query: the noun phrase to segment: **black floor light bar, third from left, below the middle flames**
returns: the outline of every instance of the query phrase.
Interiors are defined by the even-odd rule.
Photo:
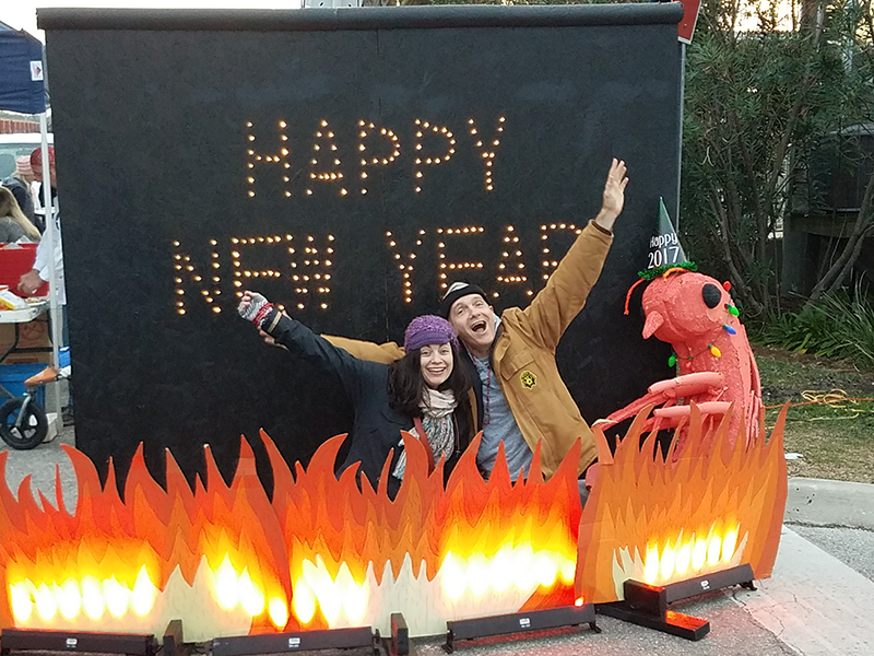
[[[454,620],[446,623],[446,644],[444,649],[451,654],[456,648],[456,641],[474,640],[492,635],[506,635],[507,633],[527,633],[556,626],[576,626],[589,624],[592,631],[601,632],[595,624],[594,605],[563,606],[531,612],[515,612],[510,614],[475,618],[472,620]]]

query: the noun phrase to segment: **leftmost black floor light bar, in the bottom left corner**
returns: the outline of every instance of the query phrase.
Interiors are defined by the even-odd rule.
[[[144,633],[3,629],[0,632],[0,654],[8,656],[12,649],[16,652],[88,652],[155,656],[157,642],[154,634]]]

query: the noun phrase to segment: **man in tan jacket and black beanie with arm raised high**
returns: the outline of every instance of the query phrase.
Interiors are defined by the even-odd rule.
[[[613,160],[601,211],[589,222],[531,304],[510,307],[498,317],[483,290],[456,282],[442,298],[440,314],[464,345],[476,391],[483,440],[477,464],[491,473],[503,442],[510,475],[528,473],[541,443],[541,469],[550,478],[579,437],[578,475],[594,462],[598,449],[589,425],[558,374],[555,349],[582,309],[601,274],[622,213],[628,184],[625,162]],[[367,344],[329,338],[358,358],[390,362],[403,355],[394,343]],[[581,493],[584,491],[581,489]]]

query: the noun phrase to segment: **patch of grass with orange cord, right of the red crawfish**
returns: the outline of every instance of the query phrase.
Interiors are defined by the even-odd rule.
[[[786,450],[803,457],[787,461],[789,476],[874,483],[874,400],[851,400],[874,399],[874,372],[773,347],[753,350],[765,406],[793,403]],[[769,429],[778,412],[766,412]]]

